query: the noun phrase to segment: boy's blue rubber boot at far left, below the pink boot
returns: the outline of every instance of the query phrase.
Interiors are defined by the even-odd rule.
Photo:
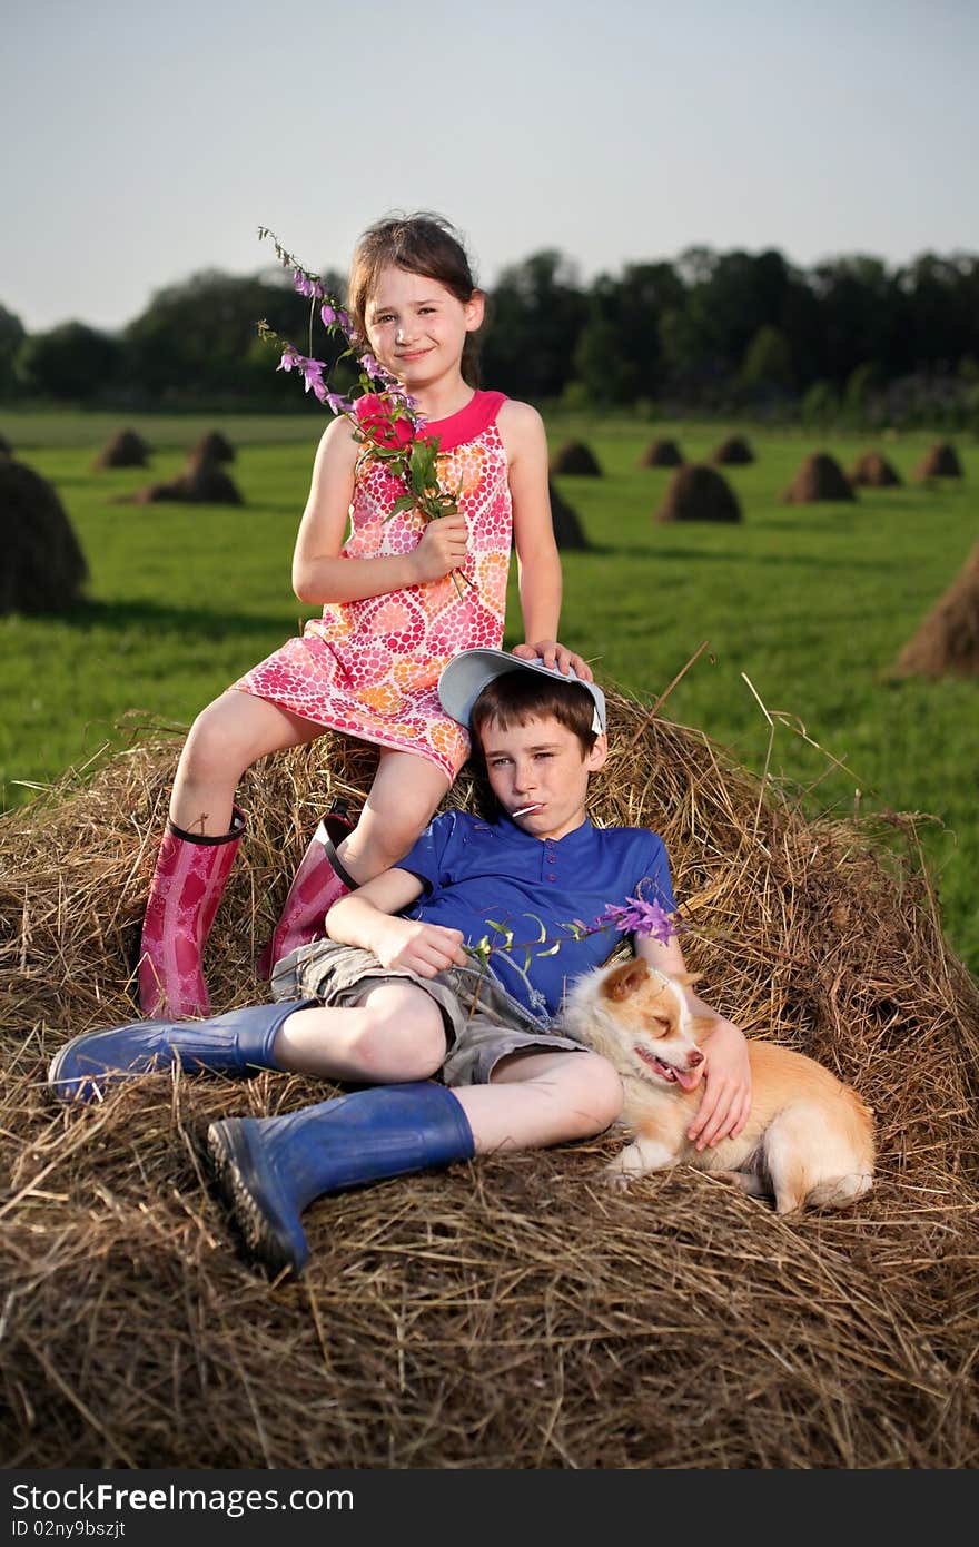
[[[316,999],[249,1004],[207,1021],[133,1021],[105,1032],[74,1036],[51,1060],[48,1084],[62,1101],[101,1101],[127,1075],[170,1069],[254,1074],[277,1069],[275,1033],[294,1010]]]

